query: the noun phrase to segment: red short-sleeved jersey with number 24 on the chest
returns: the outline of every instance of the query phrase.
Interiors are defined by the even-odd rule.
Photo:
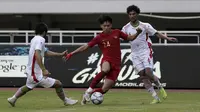
[[[116,66],[121,65],[121,49],[120,49],[120,38],[127,40],[128,35],[118,29],[112,30],[111,33],[105,34],[100,33],[93,38],[88,46],[93,47],[98,45],[101,52],[103,53],[103,59],[111,62]]]

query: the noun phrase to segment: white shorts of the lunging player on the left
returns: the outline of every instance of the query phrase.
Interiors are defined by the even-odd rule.
[[[27,76],[26,86],[30,89],[35,88],[36,86],[42,86],[44,88],[50,88],[54,85],[55,79],[50,77],[43,77],[39,82],[35,82],[32,76]]]

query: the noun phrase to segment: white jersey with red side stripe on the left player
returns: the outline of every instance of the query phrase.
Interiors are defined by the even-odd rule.
[[[45,39],[39,35],[36,35],[31,40],[28,65],[26,69],[28,75],[32,76],[35,82],[39,82],[42,79],[43,75],[42,70],[36,61],[35,50],[40,50],[42,58],[44,57],[44,53],[46,51]]]

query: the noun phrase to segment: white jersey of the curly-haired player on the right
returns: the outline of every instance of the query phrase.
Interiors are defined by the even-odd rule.
[[[141,21],[139,21],[139,25],[137,27],[133,27],[130,22],[127,23],[122,28],[122,31],[128,35],[133,35],[137,32],[137,28],[141,28],[142,32],[135,40],[130,41],[131,52],[133,55],[140,55],[150,52],[148,41],[151,43],[151,40],[148,40],[149,36],[152,36],[157,32],[157,30],[155,30],[149,23],[143,23]]]

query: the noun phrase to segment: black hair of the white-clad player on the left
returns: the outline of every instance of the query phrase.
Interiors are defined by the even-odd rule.
[[[47,33],[47,31],[48,31],[48,26],[45,23],[41,22],[36,25],[36,28],[35,28],[36,35],[41,35],[44,32]]]

